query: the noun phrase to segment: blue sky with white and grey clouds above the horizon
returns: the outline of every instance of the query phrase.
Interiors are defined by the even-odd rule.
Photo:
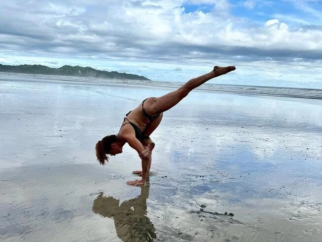
[[[322,0],[1,0],[0,64],[322,89]]]

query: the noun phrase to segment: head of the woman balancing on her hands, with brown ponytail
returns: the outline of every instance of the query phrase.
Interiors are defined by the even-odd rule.
[[[115,134],[105,136],[102,140],[96,143],[96,157],[101,164],[108,162],[108,155],[115,156],[122,153],[122,147],[117,145],[117,136]]]

